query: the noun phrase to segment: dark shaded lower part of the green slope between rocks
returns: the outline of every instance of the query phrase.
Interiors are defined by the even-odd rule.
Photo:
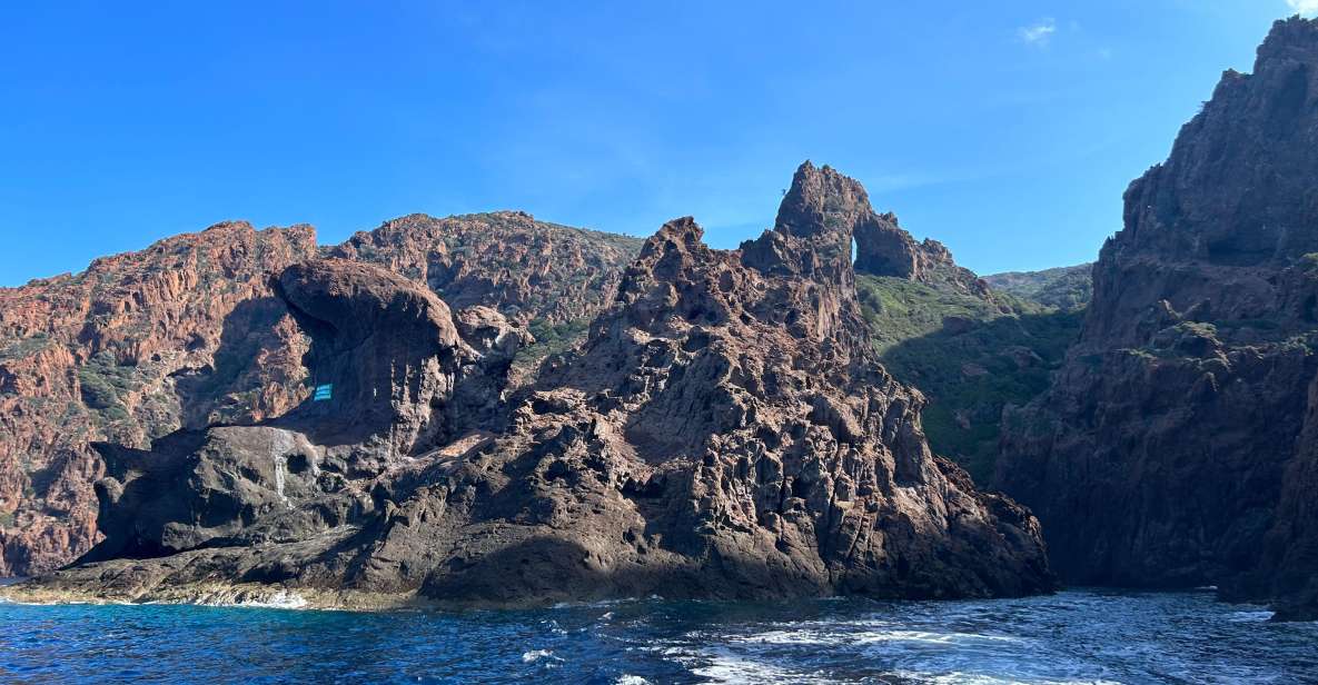
[[[992,481],[1002,411],[1048,389],[1052,373],[1079,335],[1083,310],[999,316],[977,321],[946,316],[942,328],[904,340],[880,361],[929,399],[923,412],[929,447]]]

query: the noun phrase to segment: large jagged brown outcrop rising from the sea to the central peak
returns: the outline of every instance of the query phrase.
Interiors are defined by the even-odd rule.
[[[734,252],[705,246],[691,219],[664,225],[584,345],[547,360],[496,411],[463,389],[498,378],[497,340],[515,345],[515,331],[448,314],[449,336],[438,300],[403,283],[295,266],[281,290],[299,324],[331,324],[331,350],[362,340],[352,354],[381,360],[366,368],[390,369],[387,387],[370,381],[377,390],[351,390],[330,414],[308,402],[273,422],[175,433],[150,454],[107,448],[105,543],[11,593],[509,606],[1048,590],[1037,522],[933,456],[921,395],[876,361],[849,260],[854,217],[869,209],[855,191],[807,163],[775,228]],[[341,286],[306,291],[345,299],[316,314],[290,286],[324,270],[318,283]],[[413,325],[420,307],[409,335],[439,344],[418,352],[387,329],[352,333],[358,316],[336,323],[343,312],[380,311],[355,292],[386,303],[380,321]],[[306,329],[319,349],[326,333]],[[312,375],[340,368],[312,357]],[[452,381],[416,383],[415,369]],[[387,429],[368,422],[362,441],[326,437],[339,435],[327,423],[352,423],[385,394]],[[424,439],[389,437],[416,418]]]

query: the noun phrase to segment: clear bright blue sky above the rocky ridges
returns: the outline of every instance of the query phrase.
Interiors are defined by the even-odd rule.
[[[1318,0],[812,5],[11,4],[0,285],[225,219],[693,215],[731,248],[805,158],[979,273],[1089,261],[1222,70]]]

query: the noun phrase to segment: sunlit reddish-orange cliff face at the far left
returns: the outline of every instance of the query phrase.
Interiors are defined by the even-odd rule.
[[[95,541],[90,441],[148,447],[297,404],[306,340],[268,279],[315,250],[308,227],[219,224],[0,288],[0,576]]]

